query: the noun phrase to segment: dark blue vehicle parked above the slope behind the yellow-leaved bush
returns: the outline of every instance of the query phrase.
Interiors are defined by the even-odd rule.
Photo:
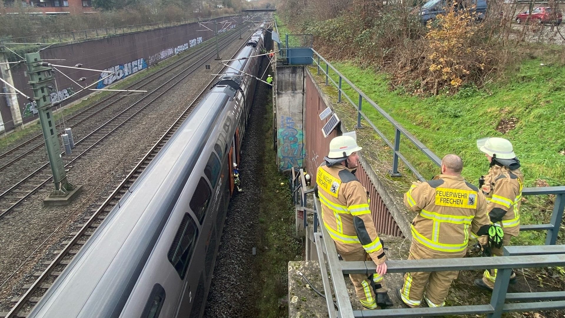
[[[449,3],[452,3],[452,1],[450,0]],[[447,12],[446,8],[446,0],[430,0],[426,2],[419,11],[421,22],[426,24],[428,21],[435,20],[438,14],[445,14]],[[477,22],[480,22],[485,18],[486,0],[459,0],[455,3],[453,10],[472,10],[475,19]]]

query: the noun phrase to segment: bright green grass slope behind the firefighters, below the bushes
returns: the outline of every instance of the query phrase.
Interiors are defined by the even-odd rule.
[[[483,89],[468,86],[455,95],[427,98],[411,96],[402,88],[392,91],[386,75],[374,70],[353,63],[333,63],[333,66],[437,156],[441,158],[448,153],[461,156],[463,176],[468,181],[476,184],[489,167],[475,140],[500,136],[514,145],[527,186],[534,186],[537,179],[544,179],[552,186],[565,185],[565,156],[560,153],[565,149],[565,67],[542,67],[540,63],[538,59],[522,63],[506,83],[490,84]],[[316,69],[311,71],[315,73]],[[338,76],[333,71],[330,74],[337,82]],[[334,86],[323,86],[324,76],[319,76],[318,81],[327,94],[337,97]],[[342,87],[357,103],[358,94],[345,81]],[[354,108],[345,97],[344,102],[337,104],[337,108],[349,108],[349,117],[355,117],[351,113]],[[383,115],[368,102],[363,102],[362,110],[387,139],[394,140],[394,128]],[[516,127],[506,134],[498,132],[501,118],[511,117],[518,119]],[[367,127],[364,131],[371,130],[366,121],[362,125]],[[378,138],[375,135],[375,141]],[[405,136],[401,137],[401,152],[425,178],[438,173],[438,167]],[[402,172],[406,174],[407,169]],[[547,223],[553,201],[547,196],[527,199],[521,213],[522,224]],[[518,242],[543,244],[544,239],[545,231],[529,231],[521,233]]]

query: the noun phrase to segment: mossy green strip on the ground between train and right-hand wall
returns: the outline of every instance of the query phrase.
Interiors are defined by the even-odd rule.
[[[267,98],[271,100],[271,94]],[[288,190],[288,178],[277,169],[275,151],[272,149],[272,103],[266,105],[263,124],[264,152],[261,173],[262,204],[259,209],[259,235],[255,261],[257,290],[257,315],[262,318],[288,317],[288,305],[279,299],[288,296],[288,262],[302,255],[303,245],[294,237],[294,205]],[[284,183],[284,184],[281,184]]]

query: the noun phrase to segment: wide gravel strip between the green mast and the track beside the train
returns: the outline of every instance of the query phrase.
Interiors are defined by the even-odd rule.
[[[242,41],[228,45],[222,57],[231,57]],[[213,58],[209,62],[211,70],[200,67],[166,97],[161,97],[113,136],[107,137],[95,152],[74,164],[67,174],[68,179],[81,184],[83,191],[71,205],[43,207],[42,200],[51,189],[49,185],[20,205],[18,211],[0,220],[0,311],[11,307],[9,300],[21,295],[21,287],[33,282],[33,272],[42,268],[36,264],[53,259],[53,251],[60,250],[68,234],[92,214],[95,203],[103,201],[124,178],[124,170],[128,173],[149,151],[208,83],[210,74],[217,74],[221,67]],[[124,107],[131,105],[131,100],[124,100]],[[80,135],[78,130],[77,135]]]

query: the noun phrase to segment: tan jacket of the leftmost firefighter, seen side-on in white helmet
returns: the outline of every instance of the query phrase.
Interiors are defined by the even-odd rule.
[[[344,165],[318,167],[316,184],[322,220],[336,245],[344,251],[360,248],[375,264],[385,261],[383,244],[375,229],[369,209],[367,190]]]

